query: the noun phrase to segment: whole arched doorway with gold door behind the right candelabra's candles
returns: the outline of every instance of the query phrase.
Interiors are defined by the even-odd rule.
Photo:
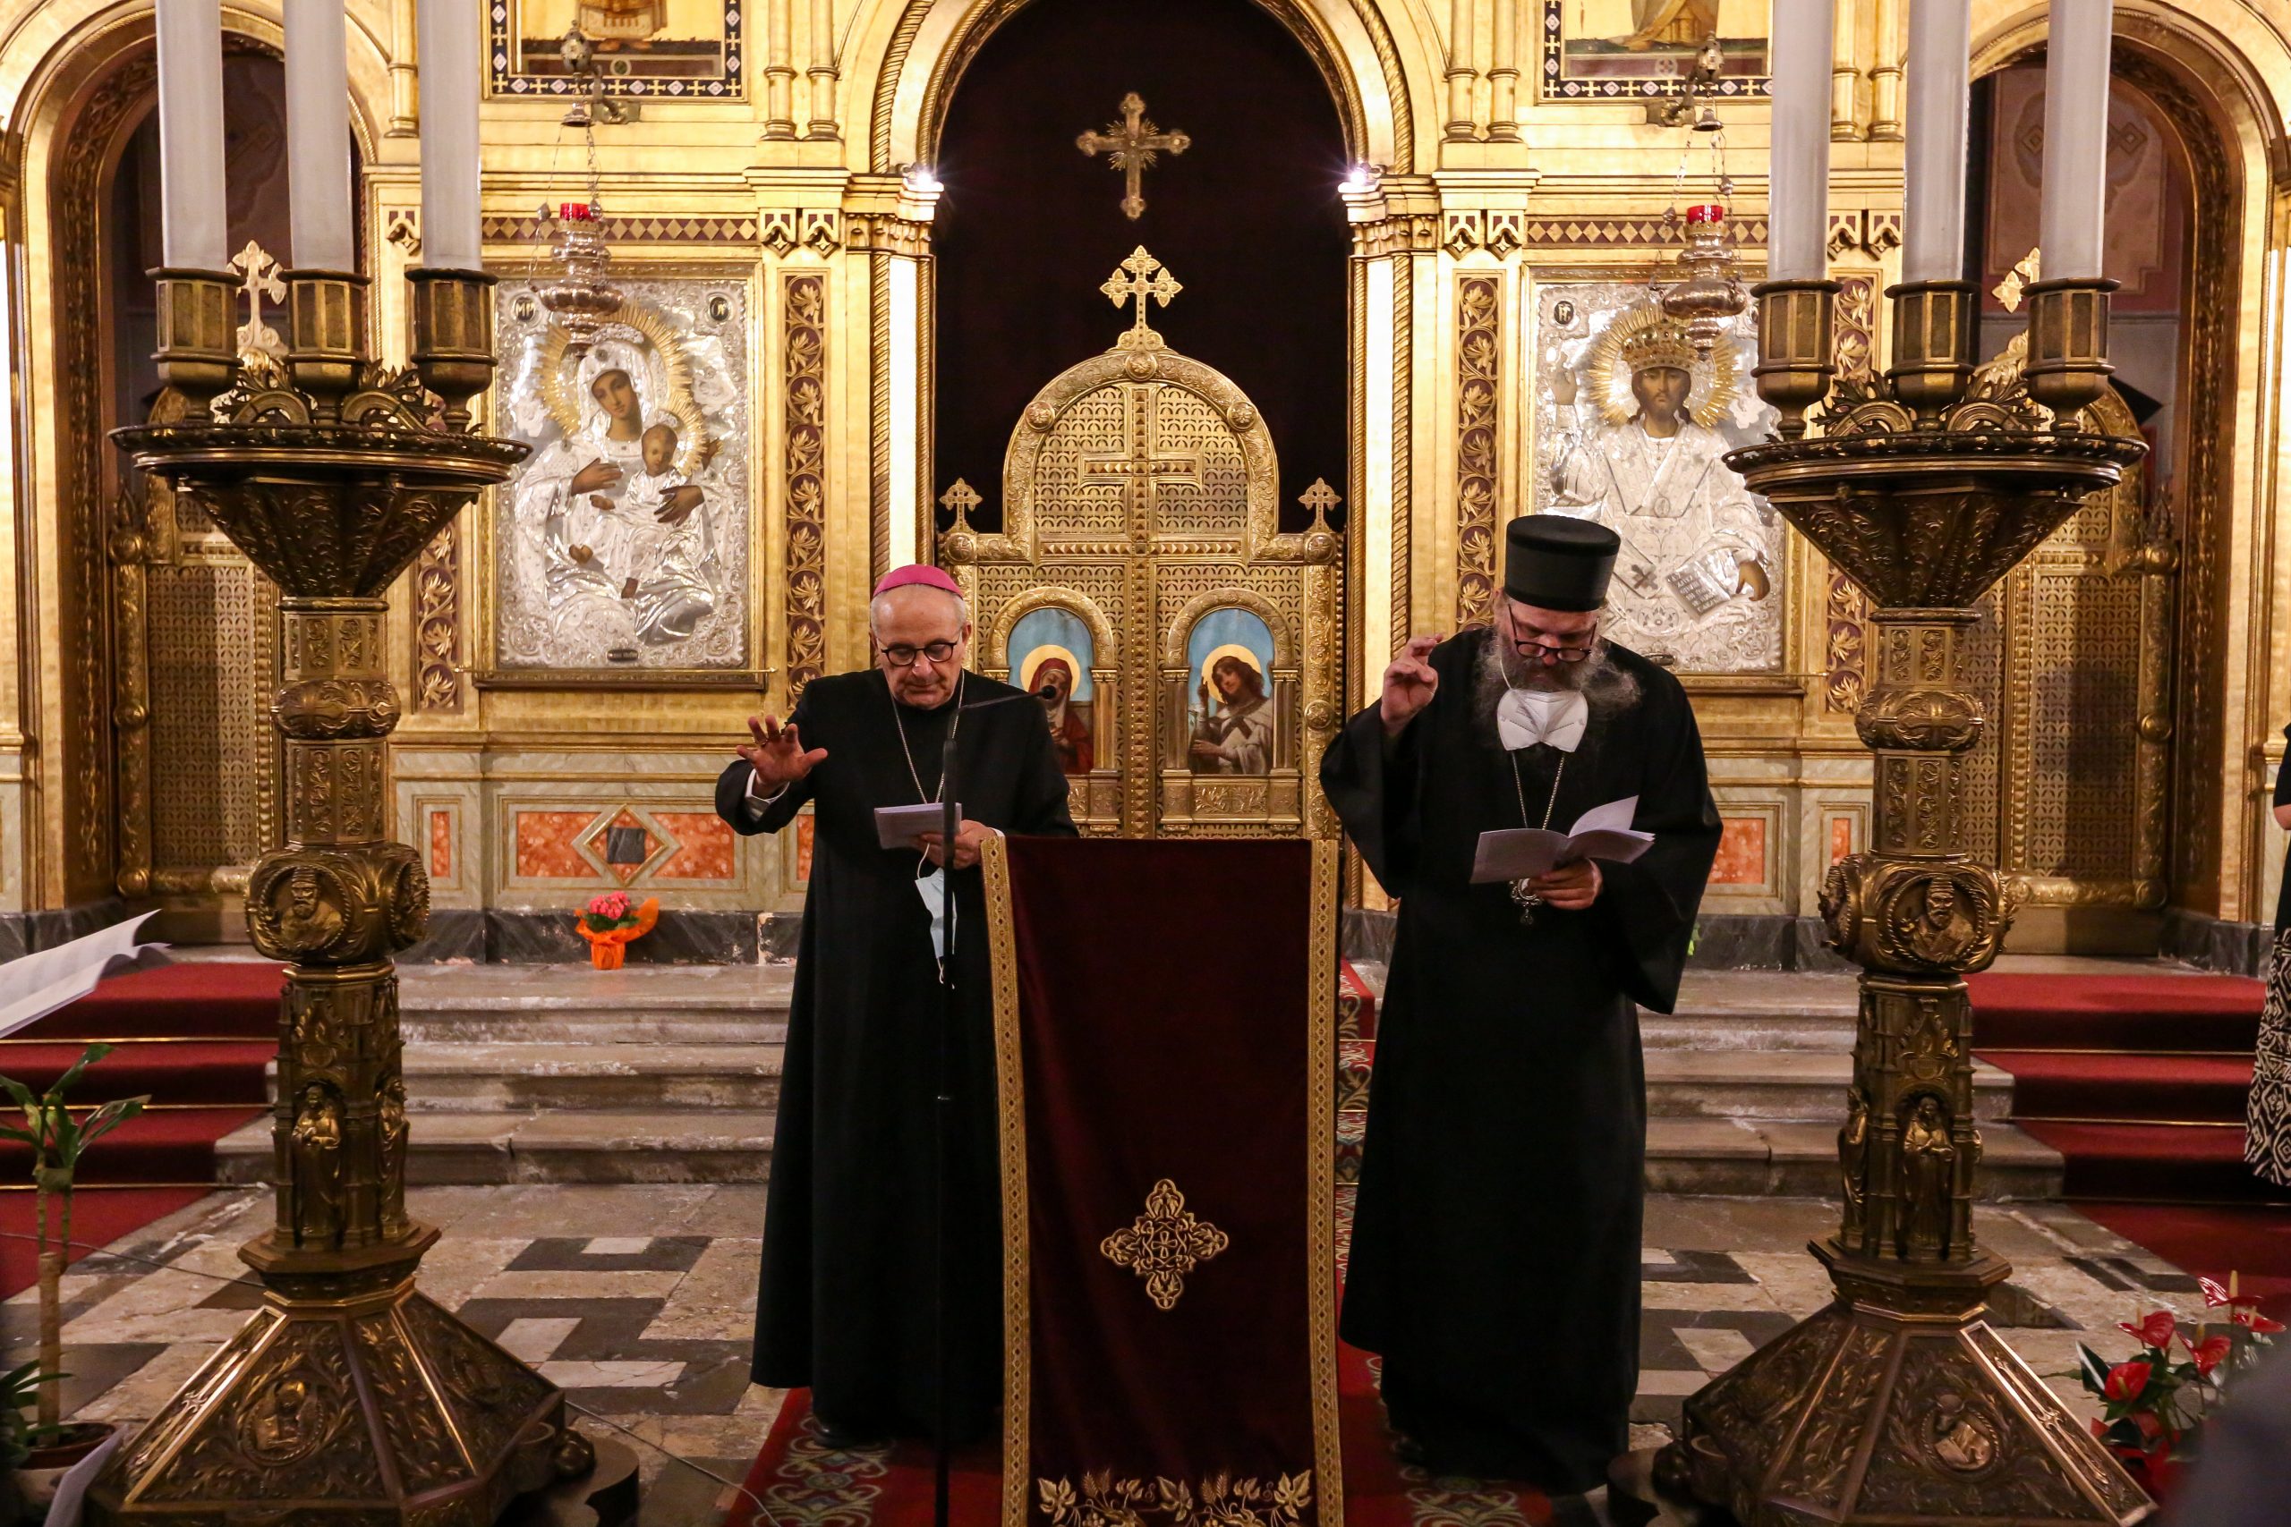
[[[2174,666],[2190,501],[2211,492],[2204,437],[2220,396],[2195,359],[2202,330],[2197,206],[2220,204],[2209,119],[2119,39],[2108,124],[2105,272],[2115,391],[2099,428],[2149,456],[2062,524],[1982,600],[1968,668],[1989,726],[1968,758],[1977,852],[2021,895],[2018,950],[2154,952],[2172,888]],[[1973,94],[1968,272],[1979,359],[2016,369],[2018,288],[2037,252],[2044,55],[2021,53]],[[2206,183],[2211,181],[2211,183]],[[2213,234],[2215,238],[2215,234]],[[2211,252],[2211,259],[2218,259]],[[2231,318],[2227,318],[2231,321]]]

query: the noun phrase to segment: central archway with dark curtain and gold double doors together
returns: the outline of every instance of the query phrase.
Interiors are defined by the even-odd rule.
[[[1125,133],[1159,144],[1134,174]],[[1308,831],[1304,714],[1340,701],[1333,641],[1306,652],[1340,627],[1336,540],[1308,531],[1343,522],[1354,476],[1347,121],[1322,60],[1246,0],[1150,27],[1036,0],[965,57],[932,172],[928,458],[981,531],[948,549],[976,565],[983,662],[1063,662],[1095,829]],[[1150,346],[1109,348],[1125,270],[1164,286]]]

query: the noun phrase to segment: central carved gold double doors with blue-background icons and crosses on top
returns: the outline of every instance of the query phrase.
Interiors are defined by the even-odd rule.
[[[1127,272],[1127,279],[1125,279]],[[1281,533],[1274,442],[1219,371],[1146,325],[1178,293],[1139,250],[1107,282],[1136,323],[1010,430],[1003,529],[955,483],[942,561],[978,664],[1056,691],[1047,723],[1091,833],[1333,836],[1320,753],[1338,717],[1336,495]]]

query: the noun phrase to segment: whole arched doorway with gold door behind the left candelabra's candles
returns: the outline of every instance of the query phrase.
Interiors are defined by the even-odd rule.
[[[27,227],[27,270],[50,314],[34,375],[46,378],[41,424],[57,442],[34,456],[53,547],[41,593],[69,655],[44,698],[62,765],[44,801],[60,847],[44,893],[53,904],[156,900],[170,911],[163,936],[229,936],[245,872],[277,838],[275,593],[218,527],[179,511],[108,440],[179,408],[151,364],[149,272],[163,259],[149,18],[60,57],[27,135],[46,204]],[[293,259],[284,98],[277,37],[229,32],[229,247],[263,307],[241,309],[238,343],[273,359],[284,357],[277,275]],[[353,185],[362,163],[360,142]]]

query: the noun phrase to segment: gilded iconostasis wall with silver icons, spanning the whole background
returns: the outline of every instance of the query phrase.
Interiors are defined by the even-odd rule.
[[[277,831],[268,591],[103,440],[160,403],[149,7],[25,9],[0,37],[25,334],[0,918],[158,897],[222,936]],[[2023,948],[2234,955],[2280,859],[2284,552],[2250,337],[2282,300],[2264,188],[2291,43],[2195,11],[2117,5],[2103,414],[2151,460],[1970,648],[1968,813]],[[424,234],[412,18],[351,5],[357,250],[392,355]],[[227,27],[241,343],[277,357],[280,23],[250,2]],[[1904,27],[1895,0],[1840,5],[1849,382],[1902,275]],[[426,856],[428,952],[534,952],[600,888],[660,895],[687,955],[784,936],[809,840],[735,840],[708,783],[747,714],[868,659],[866,588],[914,559],[971,588],[974,662],[1045,696],[1088,831],[1329,833],[1331,728],[1411,632],[1485,618],[1503,522],[1553,511],[1617,529],[1608,630],[1695,698],[1725,815],[1707,955],[1803,957],[1867,836],[1869,611],[1725,465],[1773,428],[1746,298],[1766,30],[1759,0],[490,5],[483,408],[532,456],[394,595],[392,826]],[[2041,5],[1975,7],[1993,378],[2041,268]],[[1695,227],[1743,307],[1688,327],[1663,293]],[[568,327],[584,282],[612,300]],[[1359,865],[1347,895],[1381,904]]]

